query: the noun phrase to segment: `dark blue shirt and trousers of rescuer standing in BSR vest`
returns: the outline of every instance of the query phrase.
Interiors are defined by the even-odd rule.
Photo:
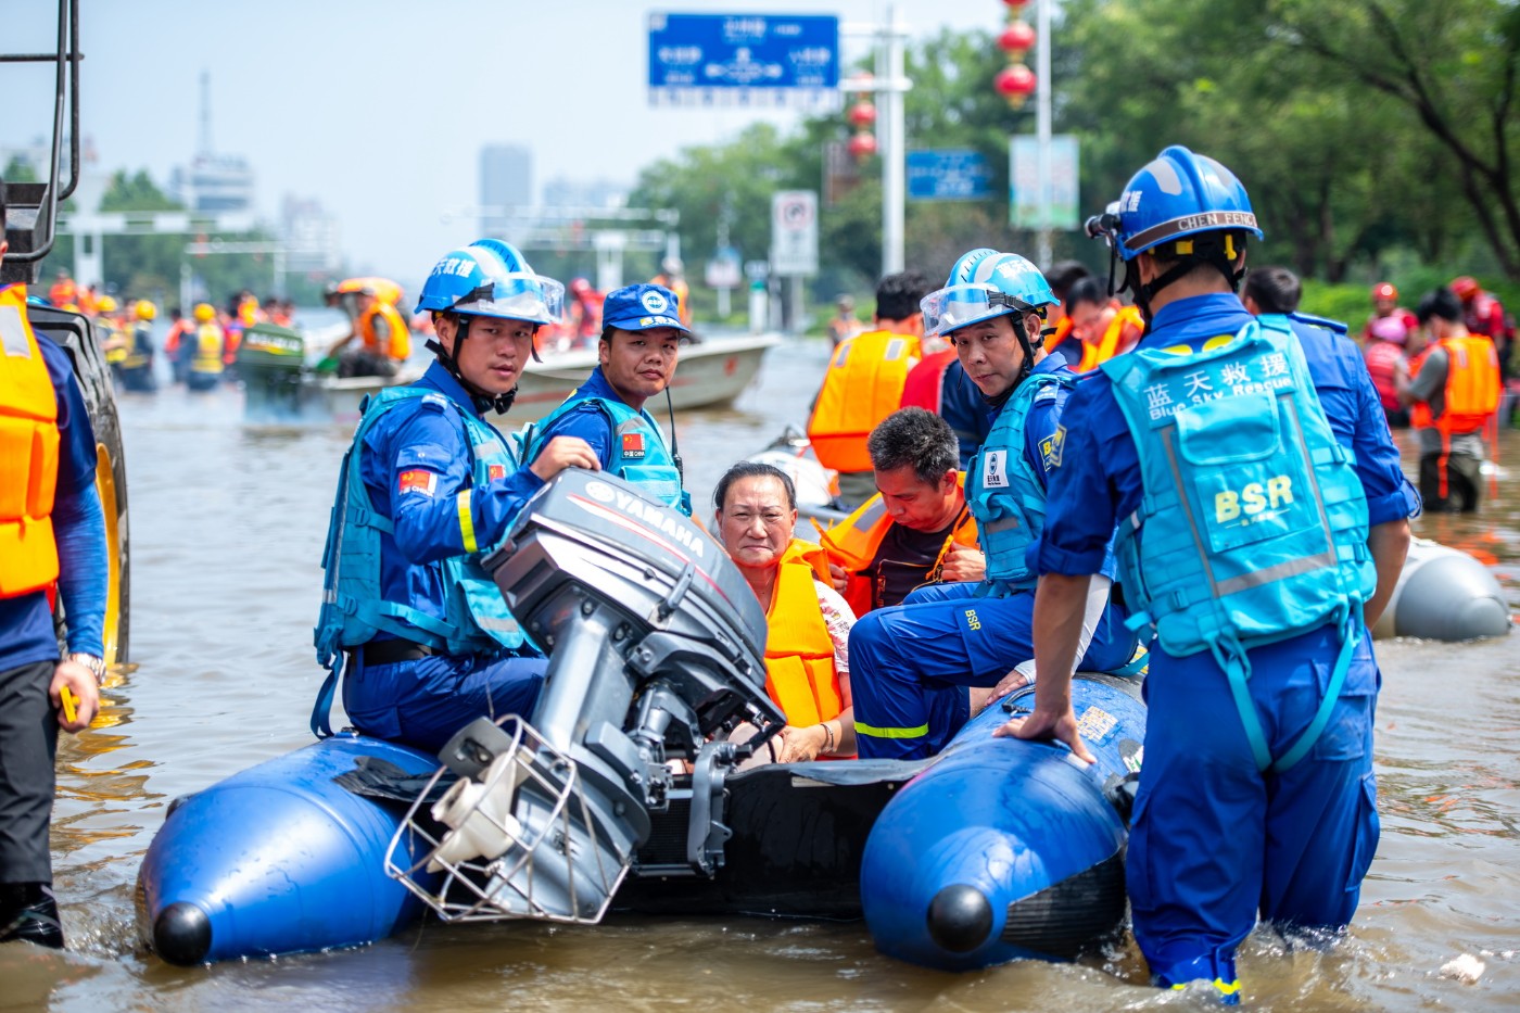
[[[1251,319],[1230,294],[1180,300],[1155,315],[1140,348],[1198,351]],[[1301,322],[1292,329],[1335,441],[1354,456],[1368,525],[1417,513],[1418,496],[1400,472],[1356,345]],[[1078,385],[1062,426],[1049,500],[1061,523],[1046,529],[1037,564],[1041,573],[1097,573],[1116,522],[1143,505],[1134,437],[1105,373]],[[1300,928],[1350,922],[1379,834],[1373,710],[1380,675],[1359,610],[1353,628],[1360,637],[1328,724],[1281,773],[1260,771],[1214,654],[1172,657],[1152,645],[1126,869],[1135,940],[1160,983],[1207,978],[1233,993],[1234,949],[1257,911]],[[1249,700],[1274,757],[1313,721],[1341,645],[1341,630],[1328,622],[1246,653]]]

